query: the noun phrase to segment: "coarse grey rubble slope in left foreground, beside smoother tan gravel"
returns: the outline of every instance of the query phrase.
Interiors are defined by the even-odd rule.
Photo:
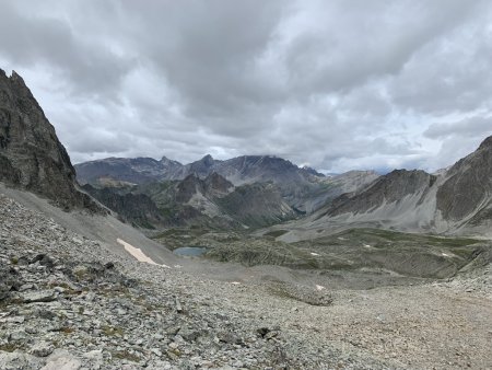
[[[1,369],[365,367],[244,317],[224,282],[116,257],[4,196],[0,209]]]

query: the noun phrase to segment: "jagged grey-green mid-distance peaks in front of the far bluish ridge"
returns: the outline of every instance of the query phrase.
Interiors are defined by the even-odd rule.
[[[151,197],[171,224],[212,228],[265,227],[296,217],[273,184],[235,187],[218,173],[204,180],[141,185],[134,189]]]

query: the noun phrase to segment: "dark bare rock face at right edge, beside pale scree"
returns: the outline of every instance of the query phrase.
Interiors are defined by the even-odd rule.
[[[480,211],[492,197],[492,136],[449,169],[437,192],[437,209],[446,220],[462,220]]]

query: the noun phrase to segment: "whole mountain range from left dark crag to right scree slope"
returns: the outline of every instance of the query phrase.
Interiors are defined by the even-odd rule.
[[[325,176],[271,155],[206,155],[189,164],[110,158],[72,166],[23,79],[1,70],[0,163],[5,184],[67,210],[106,207],[139,227],[260,228],[290,220],[292,231],[281,238],[298,240],[352,227],[487,234],[491,226],[492,137],[436,174]]]

